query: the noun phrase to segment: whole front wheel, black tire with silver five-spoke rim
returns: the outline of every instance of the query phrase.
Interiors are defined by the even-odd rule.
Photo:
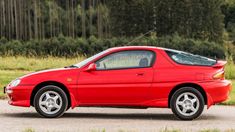
[[[35,95],[34,106],[43,117],[56,118],[64,114],[68,108],[68,98],[58,86],[42,87]]]

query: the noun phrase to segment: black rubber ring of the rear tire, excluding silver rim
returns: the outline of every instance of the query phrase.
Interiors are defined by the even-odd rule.
[[[179,95],[181,95],[182,93],[186,93],[186,92],[192,93],[195,96],[197,96],[197,98],[199,100],[199,103],[200,103],[198,111],[195,114],[191,115],[191,116],[182,115],[177,110],[177,108],[176,108],[176,100],[177,100],[177,98],[179,97]],[[178,89],[172,95],[171,100],[170,100],[170,107],[171,107],[172,112],[176,115],[177,118],[179,118],[181,120],[193,120],[193,119],[196,119],[203,112],[204,105],[205,105],[205,102],[204,102],[204,98],[203,98],[202,94],[197,89],[195,89],[193,87],[182,87],[182,88]]]

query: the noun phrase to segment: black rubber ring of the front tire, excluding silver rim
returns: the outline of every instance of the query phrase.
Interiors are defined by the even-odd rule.
[[[61,98],[62,98],[62,107],[60,108],[60,110],[55,113],[55,114],[47,114],[45,112],[43,112],[41,109],[40,109],[40,106],[39,106],[39,98],[40,96],[47,92],[47,91],[54,91],[54,92],[57,92]],[[46,118],[55,118],[55,117],[60,117],[64,114],[64,112],[66,111],[67,107],[68,107],[68,98],[67,98],[67,95],[65,94],[65,92],[58,86],[54,86],[54,85],[48,85],[48,86],[44,86],[42,87],[35,95],[35,98],[34,98],[34,107],[36,109],[36,111],[43,117],[46,117]]]

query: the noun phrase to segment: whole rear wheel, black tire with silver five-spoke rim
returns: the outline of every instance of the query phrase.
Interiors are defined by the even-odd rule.
[[[199,117],[204,110],[204,98],[193,87],[182,87],[171,97],[170,108],[177,118],[193,120]]]

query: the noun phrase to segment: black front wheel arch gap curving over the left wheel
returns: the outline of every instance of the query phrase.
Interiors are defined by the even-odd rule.
[[[64,92],[65,94],[67,95],[68,97],[68,108],[71,107],[71,95],[69,93],[69,90],[68,88],[63,84],[63,83],[60,83],[60,82],[57,82],[57,81],[45,81],[45,82],[41,82],[39,84],[37,84],[32,93],[31,93],[31,96],[30,96],[30,105],[31,106],[34,106],[34,97],[36,95],[36,93],[41,89],[43,88],[44,86],[47,86],[47,85],[54,85],[54,86],[58,86],[60,87]]]

